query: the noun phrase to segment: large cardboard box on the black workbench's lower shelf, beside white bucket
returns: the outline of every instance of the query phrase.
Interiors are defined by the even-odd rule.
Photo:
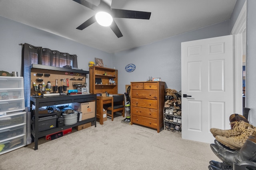
[[[72,108],[82,112],[82,120],[95,117],[95,101],[84,103],[72,103]]]

